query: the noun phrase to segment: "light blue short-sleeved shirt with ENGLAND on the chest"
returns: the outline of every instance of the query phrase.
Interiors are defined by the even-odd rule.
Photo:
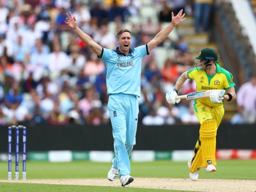
[[[141,59],[148,55],[148,45],[129,50],[128,55],[116,50],[102,48],[99,58],[107,67],[108,94],[130,94],[141,96]]]

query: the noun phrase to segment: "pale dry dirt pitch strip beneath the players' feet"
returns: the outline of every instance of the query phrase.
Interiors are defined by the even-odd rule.
[[[108,179],[27,179],[27,180],[0,180],[12,183],[41,183],[58,185],[90,185],[121,187],[119,179],[111,182]],[[231,179],[168,179],[168,178],[134,178],[134,182],[125,187],[206,191],[206,192],[256,192],[255,180]]]

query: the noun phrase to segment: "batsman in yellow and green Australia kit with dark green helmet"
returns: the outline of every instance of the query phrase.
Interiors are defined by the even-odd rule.
[[[232,74],[220,67],[215,50],[204,48],[196,59],[198,61],[195,68],[184,72],[178,78],[174,89],[166,93],[167,102],[170,104],[180,102],[176,96],[188,78],[195,79],[197,91],[225,89],[226,94],[220,96],[218,92],[211,92],[209,98],[194,100],[194,111],[200,122],[200,129],[194,156],[187,162],[189,177],[193,181],[198,180],[197,171],[202,167],[206,168],[206,172],[216,171],[216,135],[224,115],[223,101],[230,102],[236,98]]]

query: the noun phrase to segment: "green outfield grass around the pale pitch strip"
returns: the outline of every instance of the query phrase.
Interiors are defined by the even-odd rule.
[[[20,175],[22,174],[20,163]],[[219,160],[217,172],[199,172],[200,178],[256,179],[256,160]],[[68,163],[27,162],[27,179],[106,178],[111,163],[73,161]],[[12,164],[13,176],[15,165]],[[131,162],[133,177],[188,178],[187,162],[154,161]],[[0,162],[0,179],[7,178],[7,162]],[[35,190],[36,189],[36,190]],[[166,191],[141,188],[116,188],[101,186],[42,185],[0,183],[0,191]],[[177,191],[175,191],[177,192]]]

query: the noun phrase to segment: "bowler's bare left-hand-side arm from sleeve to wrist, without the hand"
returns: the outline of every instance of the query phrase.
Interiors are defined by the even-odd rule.
[[[78,26],[76,28],[74,28],[74,32],[98,56],[101,55],[102,46],[100,46],[95,41],[93,41],[93,39],[89,35],[87,35],[85,32],[83,32]]]

